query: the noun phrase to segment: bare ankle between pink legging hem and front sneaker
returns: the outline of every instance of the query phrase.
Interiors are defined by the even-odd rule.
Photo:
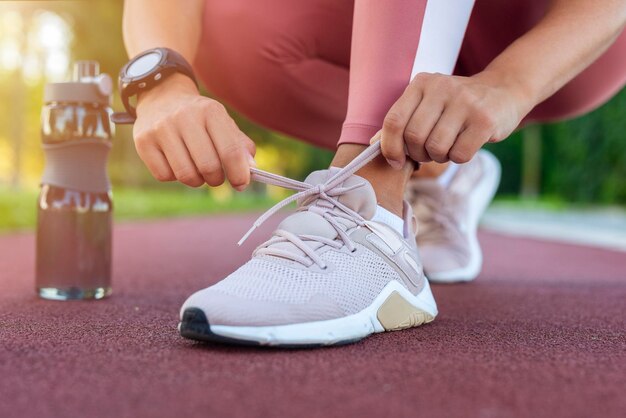
[[[342,144],[337,149],[331,165],[344,167],[365,148],[365,145]],[[404,188],[413,170],[413,162],[408,159],[402,169],[396,170],[382,156],[378,156],[356,174],[370,182],[381,207],[402,217]]]

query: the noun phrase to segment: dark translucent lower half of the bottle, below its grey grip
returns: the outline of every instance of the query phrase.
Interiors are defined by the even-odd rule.
[[[42,184],[35,270],[39,296],[70,300],[111,294],[112,214],[110,193]]]

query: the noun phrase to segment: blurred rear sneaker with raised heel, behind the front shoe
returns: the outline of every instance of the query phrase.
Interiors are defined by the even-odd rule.
[[[482,268],[478,222],[500,184],[500,163],[481,150],[447,186],[411,179],[406,198],[418,220],[417,247],[431,282],[474,280]]]

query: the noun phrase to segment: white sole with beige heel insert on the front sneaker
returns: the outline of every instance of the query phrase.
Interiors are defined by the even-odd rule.
[[[389,313],[390,310],[393,312]],[[357,341],[375,332],[422,325],[431,322],[436,316],[437,304],[428,281],[419,294],[413,295],[393,280],[370,306],[343,318],[278,326],[210,325],[210,328],[213,334],[229,340],[260,345],[333,345]]]

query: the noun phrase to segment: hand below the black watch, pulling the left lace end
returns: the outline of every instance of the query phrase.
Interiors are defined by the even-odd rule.
[[[200,95],[191,79],[174,74],[138,98],[135,147],[154,178],[188,186],[237,190],[250,183],[254,142],[224,106]]]

